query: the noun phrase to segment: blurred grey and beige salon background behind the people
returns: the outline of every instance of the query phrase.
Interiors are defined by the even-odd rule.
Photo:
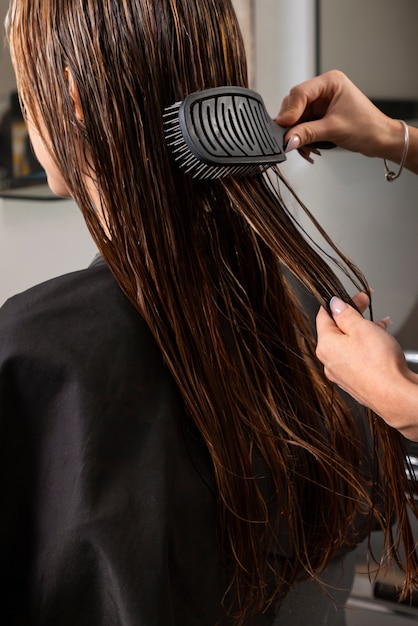
[[[416,124],[416,0],[234,0],[234,5],[245,36],[251,86],[261,93],[272,117],[294,84],[339,68],[394,117]],[[8,0],[0,0],[1,24],[7,6]],[[418,176],[405,171],[387,183],[381,161],[339,149],[323,152],[314,165],[291,153],[282,170],[321,225],[364,271],[374,289],[375,317],[392,317],[390,332],[414,360]],[[33,159],[10,57],[7,47],[0,46],[0,305],[31,285],[85,267],[95,253],[77,207],[52,196]],[[411,446],[411,459],[418,463],[415,455],[418,451]],[[377,536],[377,547],[378,541]],[[347,610],[349,625],[407,626],[418,621],[415,606],[396,604],[399,573],[377,584],[362,575],[365,554],[363,546]]]

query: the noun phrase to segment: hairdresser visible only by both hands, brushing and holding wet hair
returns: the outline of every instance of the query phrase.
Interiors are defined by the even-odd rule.
[[[305,156],[311,141],[336,144],[401,163],[404,130],[377,109],[342,72],[332,71],[294,87],[284,99],[279,124],[292,126],[288,150]],[[409,126],[405,167],[418,174],[418,129]],[[366,294],[355,298],[363,312]],[[331,318],[321,309],[317,318],[317,356],[330,380],[348,391],[397,428],[418,441],[418,375],[406,363],[396,340],[385,332],[389,320],[364,319],[340,298],[330,304]]]

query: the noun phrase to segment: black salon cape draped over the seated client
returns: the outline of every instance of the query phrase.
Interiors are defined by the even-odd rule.
[[[104,263],[1,308],[0,445],[3,624],[218,623],[228,577],[210,464]],[[352,572],[349,556],[328,575],[348,589]],[[342,624],[338,601],[304,583],[276,623]]]

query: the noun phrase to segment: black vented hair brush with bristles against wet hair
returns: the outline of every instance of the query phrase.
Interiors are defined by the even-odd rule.
[[[288,129],[278,126],[261,96],[246,87],[192,93],[165,109],[163,123],[175,160],[194,178],[249,176],[286,160]]]

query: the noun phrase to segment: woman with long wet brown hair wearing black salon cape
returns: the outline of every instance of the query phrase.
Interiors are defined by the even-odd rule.
[[[8,623],[341,624],[330,587],[374,527],[406,593],[399,438],[326,385],[291,286],[340,283],[274,180],[194,181],[166,147],[166,106],[246,84],[230,1],[12,0],[8,33],[104,259],[0,315]]]

